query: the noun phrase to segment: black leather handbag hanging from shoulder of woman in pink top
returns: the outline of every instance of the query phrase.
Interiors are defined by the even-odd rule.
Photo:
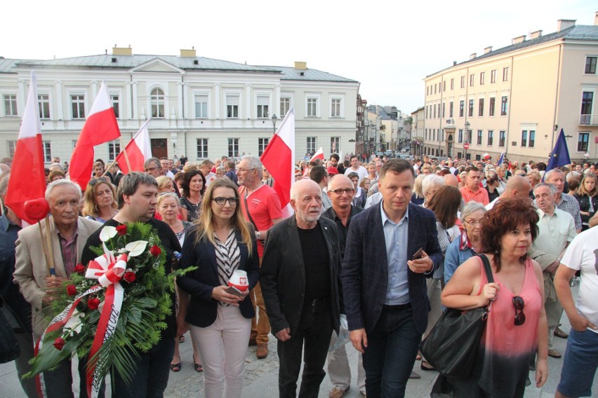
[[[488,282],[494,282],[490,261],[484,254],[478,256],[484,263]],[[420,345],[425,360],[444,376],[469,378],[491,306],[492,301],[486,307],[468,311],[447,308]]]

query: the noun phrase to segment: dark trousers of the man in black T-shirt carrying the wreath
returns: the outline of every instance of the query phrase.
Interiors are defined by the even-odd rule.
[[[140,358],[135,359],[136,369],[129,384],[121,378],[119,373],[114,371],[112,397],[164,397],[174,354],[174,343],[174,338],[164,337],[152,350],[140,353]]]

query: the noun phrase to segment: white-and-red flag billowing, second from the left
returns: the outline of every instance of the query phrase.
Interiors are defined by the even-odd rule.
[[[98,97],[95,97],[93,107],[81,130],[77,145],[71,156],[69,176],[85,191],[91,179],[93,167],[93,147],[112,141],[121,136],[117,116],[110,102],[106,82],[102,81]]]

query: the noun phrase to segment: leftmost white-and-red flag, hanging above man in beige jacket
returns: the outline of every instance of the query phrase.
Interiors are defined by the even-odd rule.
[[[37,78],[31,71],[27,104],[23,111],[19,139],[15,149],[11,179],[4,203],[29,224],[37,220],[25,215],[23,205],[27,200],[44,198],[46,192],[46,173],[44,170],[44,152],[41,148],[41,123],[37,106]]]

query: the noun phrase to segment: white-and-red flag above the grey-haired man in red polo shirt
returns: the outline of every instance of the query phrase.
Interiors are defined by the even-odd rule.
[[[295,181],[295,110],[288,109],[282,123],[270,139],[260,158],[274,179],[274,191],[280,198],[281,209],[291,201],[291,184]]]

